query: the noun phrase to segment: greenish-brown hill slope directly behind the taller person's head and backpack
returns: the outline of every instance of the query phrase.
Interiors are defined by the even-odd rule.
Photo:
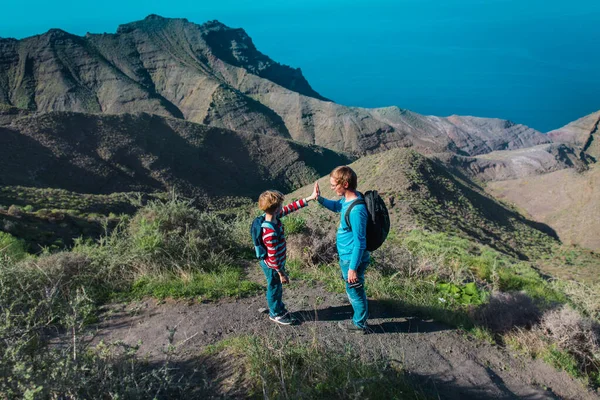
[[[527,220],[414,151],[389,150],[350,166],[358,174],[360,191],[379,191],[388,206],[392,229],[398,233],[416,227],[452,233],[520,258],[538,255],[556,243],[554,232],[544,224]],[[334,198],[328,175],[319,184],[325,197]],[[291,197],[307,193],[309,186]],[[315,208],[311,212],[337,221],[328,211]]]

